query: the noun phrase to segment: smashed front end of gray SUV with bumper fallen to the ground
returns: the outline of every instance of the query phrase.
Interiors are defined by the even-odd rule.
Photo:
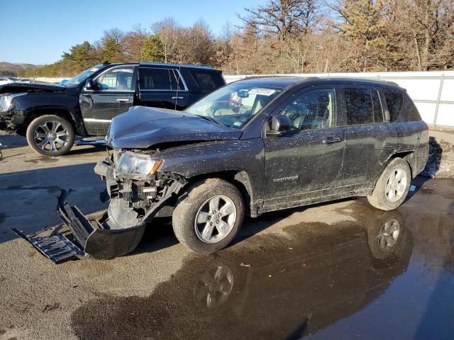
[[[55,263],[69,259],[112,259],[133,251],[143,237],[146,223],[187,182],[177,174],[165,173],[140,180],[119,178],[114,169],[116,156],[114,152],[94,169],[106,179],[101,200],[110,199],[109,208],[99,220],[90,221],[77,207],[70,207],[68,193],[62,191],[57,203],[62,225],[30,235],[18,229],[12,229],[13,232]]]

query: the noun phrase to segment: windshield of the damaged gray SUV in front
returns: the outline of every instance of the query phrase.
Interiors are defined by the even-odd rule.
[[[233,83],[218,89],[185,110],[230,128],[243,128],[282,89]]]

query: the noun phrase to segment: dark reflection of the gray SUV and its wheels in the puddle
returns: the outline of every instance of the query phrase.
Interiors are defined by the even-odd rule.
[[[363,225],[367,238],[354,231],[346,237],[325,235],[330,238],[329,246],[320,240],[320,244],[314,244],[314,251],[298,252],[291,257],[292,253],[276,256],[267,266],[249,266],[246,275],[244,271],[236,273],[237,263],[215,264],[199,276],[194,286],[194,304],[204,307],[215,319],[221,315],[216,315],[214,310],[224,303],[230,303],[232,311],[238,305],[245,306],[237,317],[250,316],[257,308],[264,307],[270,313],[262,315],[262,326],[269,322],[278,329],[285,323],[291,324],[292,316],[300,317],[297,310],[305,311],[304,328],[311,331],[336,321],[341,317],[339,313],[343,318],[361,310],[405,271],[411,254],[409,232],[404,230],[400,213],[397,210],[373,212]],[[331,244],[331,237],[335,236],[338,243]],[[273,273],[270,280],[267,280],[268,273]],[[298,306],[297,310],[292,305]],[[289,317],[289,314],[294,315]],[[318,319],[318,315],[322,318]],[[287,322],[280,325],[274,322],[276,317],[281,319],[279,316],[285,316],[282,320]],[[333,316],[336,319],[331,319]],[[264,322],[268,317],[268,322]]]

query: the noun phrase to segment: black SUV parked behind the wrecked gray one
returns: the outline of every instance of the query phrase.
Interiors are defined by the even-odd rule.
[[[112,118],[131,106],[181,111],[225,84],[222,72],[211,67],[106,62],[62,86],[0,86],[0,128],[27,137],[40,154],[60,156],[75,135],[106,135]]]

